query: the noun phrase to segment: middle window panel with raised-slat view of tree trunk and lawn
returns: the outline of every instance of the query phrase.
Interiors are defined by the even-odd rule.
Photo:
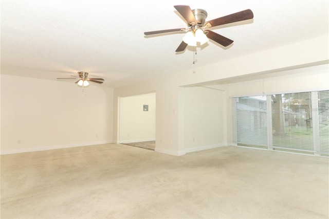
[[[272,95],[272,145],[313,152],[310,92]]]

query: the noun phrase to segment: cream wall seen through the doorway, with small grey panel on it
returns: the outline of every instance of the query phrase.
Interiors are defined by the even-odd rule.
[[[143,111],[149,105],[149,111]],[[119,143],[155,140],[156,94],[120,98]]]

